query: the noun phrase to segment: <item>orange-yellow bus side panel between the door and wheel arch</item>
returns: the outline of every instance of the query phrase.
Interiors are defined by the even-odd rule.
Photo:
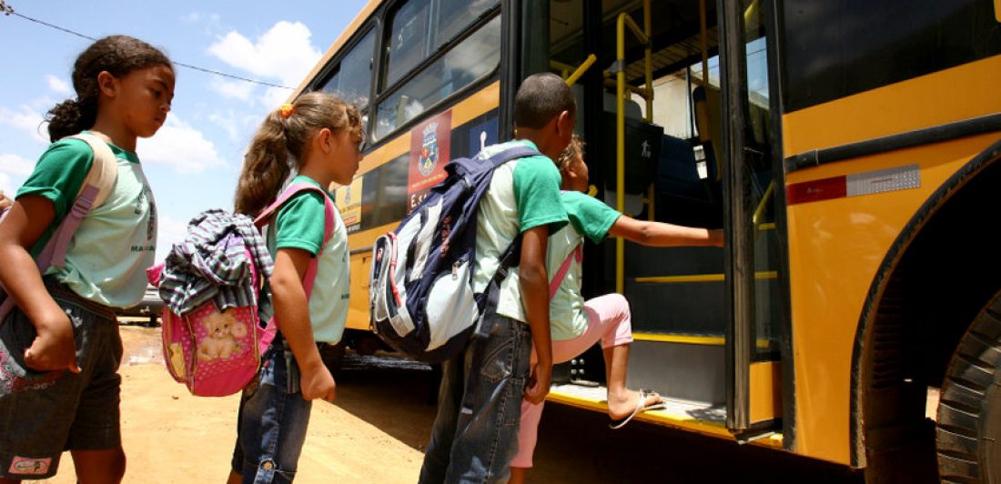
[[[785,155],[1001,112],[997,72],[1001,57],[786,114]],[[852,351],[876,271],[916,210],[998,138],[988,133],[787,175],[797,453],[850,463]],[[822,201],[804,196],[884,169],[917,175],[920,186],[855,196],[835,187]]]

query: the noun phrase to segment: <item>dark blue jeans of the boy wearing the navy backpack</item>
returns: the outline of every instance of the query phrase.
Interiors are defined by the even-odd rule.
[[[529,326],[496,316],[488,338],[473,338],[441,365],[437,417],[418,482],[508,481],[531,353]]]

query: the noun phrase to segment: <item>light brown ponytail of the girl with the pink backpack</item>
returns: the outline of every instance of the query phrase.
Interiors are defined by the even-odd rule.
[[[281,123],[281,113],[272,111],[250,141],[236,185],[237,213],[257,216],[278,196],[278,190],[291,173]]]

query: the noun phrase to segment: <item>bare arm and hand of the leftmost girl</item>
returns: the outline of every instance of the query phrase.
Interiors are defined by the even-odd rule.
[[[49,296],[29,250],[55,218],[52,201],[25,195],[0,224],[0,282],[8,297],[35,326],[37,336],[25,351],[25,363],[39,371],[68,369],[79,373],[69,317]]]

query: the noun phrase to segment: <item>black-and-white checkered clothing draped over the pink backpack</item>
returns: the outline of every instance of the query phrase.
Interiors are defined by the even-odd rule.
[[[164,261],[160,298],[178,315],[213,300],[219,311],[262,305],[257,300],[250,264],[271,277],[272,259],[264,238],[245,215],[205,210],[188,223],[187,235]],[[261,291],[260,298],[266,298]]]

